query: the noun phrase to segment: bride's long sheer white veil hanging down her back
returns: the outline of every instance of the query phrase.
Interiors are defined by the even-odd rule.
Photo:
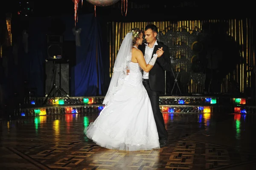
[[[120,49],[116,55],[113,75],[108,87],[108,92],[103,101],[103,104],[105,105],[108,105],[116,91],[122,88],[128,64],[131,62],[132,40],[133,33],[129,32],[122,41]]]

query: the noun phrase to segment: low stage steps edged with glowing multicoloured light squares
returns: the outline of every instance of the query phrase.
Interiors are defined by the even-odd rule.
[[[55,101],[40,97],[24,98],[24,103],[15,108],[15,116],[37,116],[69,113],[99,113],[104,105],[105,96],[89,97],[56,97]],[[252,113],[247,106],[247,99],[233,97],[230,95],[221,96],[160,96],[160,109],[163,113]]]

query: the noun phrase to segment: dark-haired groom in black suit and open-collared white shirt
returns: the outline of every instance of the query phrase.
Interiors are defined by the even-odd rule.
[[[171,71],[171,60],[168,46],[161,42],[157,42],[157,33],[157,26],[154,24],[147,25],[145,27],[146,43],[140,45],[139,49],[143,52],[145,61],[148,63],[157,50],[163,47],[164,53],[160,58],[157,58],[153,68],[149,72],[143,72],[143,85],[145,86],[151,101],[154,119],[157,124],[160,146],[164,146],[168,139],[168,133],[165,129],[163,114],[159,108],[159,95],[160,92],[164,92],[164,70]]]

